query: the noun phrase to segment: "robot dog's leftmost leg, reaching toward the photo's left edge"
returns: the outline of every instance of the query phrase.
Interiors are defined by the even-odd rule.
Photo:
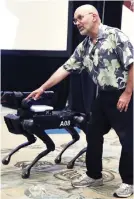
[[[28,132],[24,132],[23,135],[28,139],[28,142],[25,142],[23,144],[20,144],[18,147],[16,147],[15,149],[13,149],[7,156],[5,156],[2,159],[2,163],[4,165],[9,164],[11,156],[16,153],[18,150],[20,150],[21,148],[24,148],[26,146],[29,146],[31,144],[33,144],[34,142],[36,142],[36,138],[34,137],[34,135],[29,134]]]

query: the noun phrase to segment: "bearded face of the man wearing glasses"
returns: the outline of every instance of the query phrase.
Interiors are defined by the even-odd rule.
[[[74,13],[74,24],[81,35],[89,35],[93,27],[93,13],[89,11],[76,10]]]

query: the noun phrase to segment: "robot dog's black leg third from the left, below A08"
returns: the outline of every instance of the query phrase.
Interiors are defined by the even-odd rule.
[[[70,147],[72,144],[74,144],[75,142],[77,142],[80,139],[80,136],[78,134],[78,132],[75,130],[74,127],[68,127],[66,128],[66,130],[71,134],[73,140],[71,142],[69,142],[65,148],[60,152],[60,154],[55,158],[55,163],[58,164],[61,162],[61,156],[64,153],[64,151],[66,151],[66,149],[68,147]]]

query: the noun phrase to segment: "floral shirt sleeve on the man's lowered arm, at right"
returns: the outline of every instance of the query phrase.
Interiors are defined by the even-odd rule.
[[[116,31],[116,53],[125,70],[134,63],[134,47],[128,37],[121,31]]]

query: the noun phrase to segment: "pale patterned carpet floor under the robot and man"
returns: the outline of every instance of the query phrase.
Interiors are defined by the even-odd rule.
[[[22,135],[8,132],[3,116],[15,113],[15,110],[1,107],[1,158],[11,149],[26,141]],[[2,199],[108,199],[121,182],[118,174],[120,144],[114,130],[105,135],[103,153],[104,185],[98,188],[73,188],[71,179],[80,176],[85,167],[85,155],[80,157],[73,169],[67,169],[67,163],[86,146],[85,134],[80,132],[80,140],[72,145],[64,154],[60,164],[54,159],[66,143],[71,141],[69,134],[50,134],[56,145],[51,152],[32,168],[29,179],[22,179],[22,168],[34,157],[46,149],[41,140],[21,149],[13,155],[9,165],[1,164],[1,198]],[[130,197],[133,198],[133,197]]]

